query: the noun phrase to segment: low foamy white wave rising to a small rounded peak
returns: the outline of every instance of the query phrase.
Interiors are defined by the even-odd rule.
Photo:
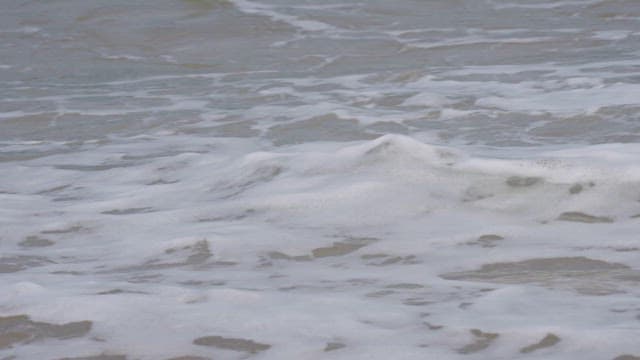
[[[272,210],[351,208],[372,221],[455,210],[598,222],[640,212],[637,145],[539,151],[522,159],[472,156],[402,135],[332,146],[248,154],[211,191]]]

